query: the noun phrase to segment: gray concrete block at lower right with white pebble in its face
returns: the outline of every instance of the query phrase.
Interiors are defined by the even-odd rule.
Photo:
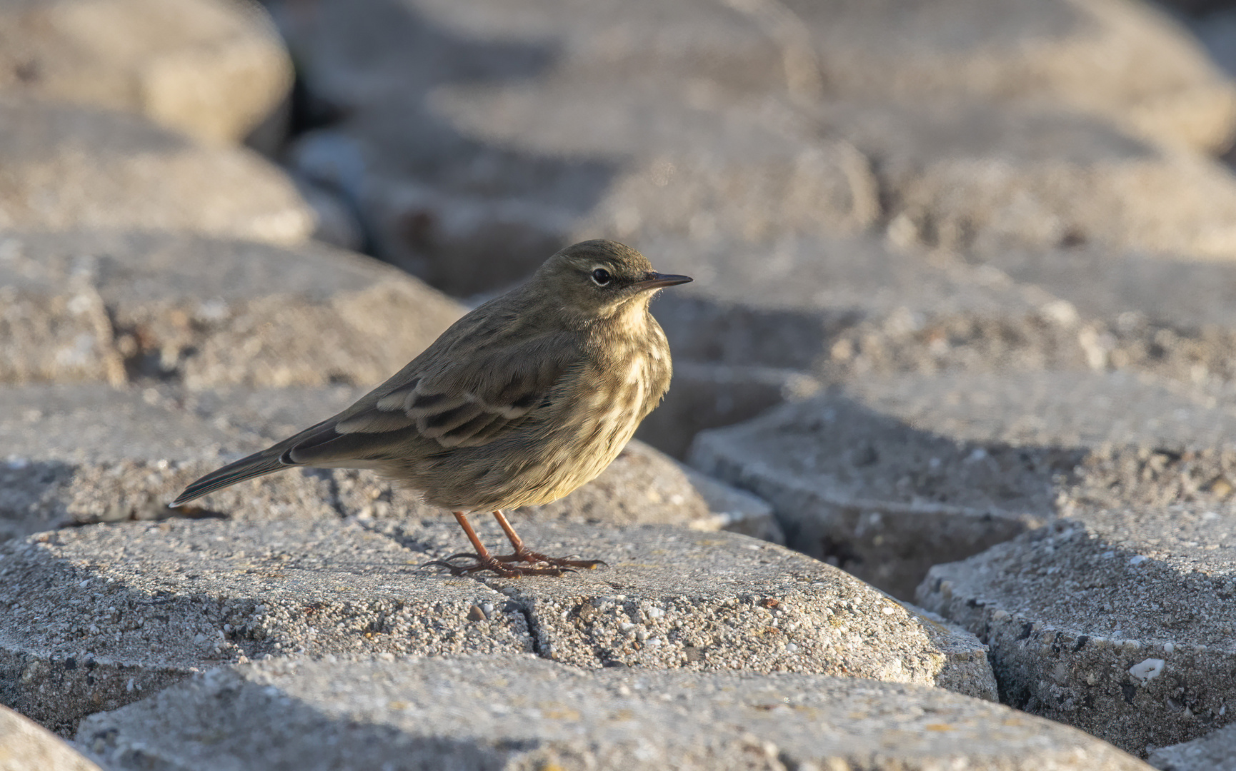
[[[1230,504],[1085,512],[933,567],[918,600],[991,646],[1001,702],[1131,752],[1232,719]]]

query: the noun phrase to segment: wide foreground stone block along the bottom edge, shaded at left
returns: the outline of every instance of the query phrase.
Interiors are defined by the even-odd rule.
[[[78,743],[115,771],[1148,769],[1075,729],[936,688],[515,657],[215,670],[89,718]]]

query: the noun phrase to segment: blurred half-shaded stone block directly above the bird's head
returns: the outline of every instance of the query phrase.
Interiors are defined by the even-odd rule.
[[[805,136],[786,105],[697,104],[665,82],[574,72],[425,98],[429,115],[403,116],[399,132],[357,110],[298,140],[292,158],[358,201],[379,256],[454,294],[522,278],[597,234],[747,243],[857,232],[879,215],[866,159]]]

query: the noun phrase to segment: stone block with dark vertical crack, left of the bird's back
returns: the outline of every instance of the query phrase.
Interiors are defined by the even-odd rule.
[[[0,295],[10,383],[370,387],[464,313],[391,266],[320,245],[98,230],[0,236]]]

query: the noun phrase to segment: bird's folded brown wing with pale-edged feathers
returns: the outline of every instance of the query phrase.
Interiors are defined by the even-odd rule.
[[[303,432],[283,458],[307,466],[382,458],[413,436],[441,449],[485,445],[549,408],[578,355],[570,339],[544,335],[461,358],[405,368]]]

